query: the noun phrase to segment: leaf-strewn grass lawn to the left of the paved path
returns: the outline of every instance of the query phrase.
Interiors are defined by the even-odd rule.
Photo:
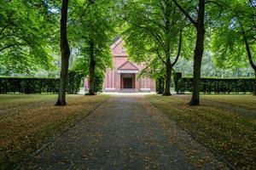
[[[67,95],[67,106],[54,106],[56,95],[0,95],[0,169],[12,169],[93,111],[108,95]]]

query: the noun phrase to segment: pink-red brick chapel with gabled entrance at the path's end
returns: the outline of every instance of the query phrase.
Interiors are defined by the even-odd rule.
[[[138,78],[138,74],[143,70],[144,65],[137,65],[128,60],[122,38],[114,42],[110,48],[113,55],[113,68],[108,68],[106,71],[102,86],[103,92],[155,91],[155,82],[153,79],[146,77]]]

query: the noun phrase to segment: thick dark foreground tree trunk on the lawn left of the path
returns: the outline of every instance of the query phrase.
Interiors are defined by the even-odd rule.
[[[66,103],[66,87],[68,76],[68,60],[70,49],[67,41],[67,8],[68,0],[62,0],[61,7],[61,81],[59,95],[55,105],[67,105]]]

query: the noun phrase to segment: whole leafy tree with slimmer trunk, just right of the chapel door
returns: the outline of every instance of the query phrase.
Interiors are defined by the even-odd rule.
[[[129,56],[137,62],[160,59],[166,71],[163,95],[171,95],[172,68],[180,56],[186,26],[183,15],[172,0],[125,2],[124,13],[123,35]]]

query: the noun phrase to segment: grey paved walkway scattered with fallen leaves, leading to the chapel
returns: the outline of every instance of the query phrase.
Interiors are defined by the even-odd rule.
[[[25,169],[219,169],[223,163],[142,95],[112,96]]]

